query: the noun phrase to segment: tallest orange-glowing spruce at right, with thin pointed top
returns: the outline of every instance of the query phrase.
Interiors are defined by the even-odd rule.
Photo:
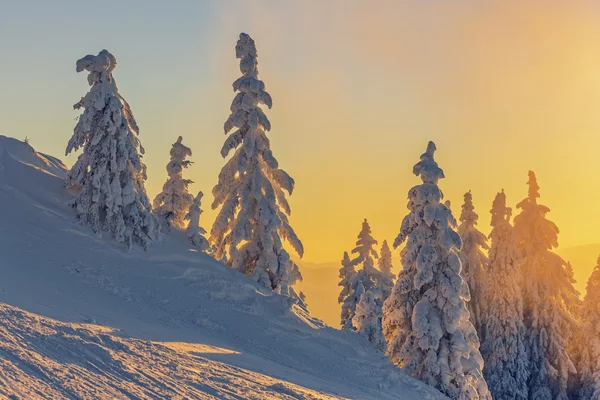
[[[565,261],[552,252],[558,227],[546,219],[550,209],[537,203],[539,186],[529,171],[528,196],[517,204],[514,229],[523,257],[523,296],[529,353],[529,398],[567,399],[569,375],[576,369],[568,342],[577,322],[565,300],[571,283]]]

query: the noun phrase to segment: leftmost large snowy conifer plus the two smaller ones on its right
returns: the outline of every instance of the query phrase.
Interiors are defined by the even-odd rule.
[[[131,108],[112,76],[116,65],[106,50],[77,61],[78,72],[89,72],[91,86],[74,106],[84,111],[66,151],[83,149],[66,181],[77,192],[71,203],[77,217],[94,232],[108,232],[129,248],[139,244],[147,250],[161,230],[176,228],[186,230],[194,245],[207,250],[200,227],[202,192],[194,197],[188,191],[192,181],[183,177],[183,170],[192,163],[186,160],[192,151],[181,136],[170,152],[163,191],[154,199],[154,208],[150,205],[144,188],[144,148]]]

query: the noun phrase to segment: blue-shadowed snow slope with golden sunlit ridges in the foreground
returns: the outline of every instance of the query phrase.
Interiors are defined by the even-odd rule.
[[[0,136],[0,398],[443,398],[183,234],[94,235],[63,176]]]

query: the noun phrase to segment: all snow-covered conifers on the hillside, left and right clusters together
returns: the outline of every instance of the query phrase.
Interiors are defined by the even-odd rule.
[[[161,232],[186,231],[202,251],[302,301],[292,289],[300,271],[283,246],[304,252],[288,219],[295,182],[270,149],[271,123],[261,106],[271,108],[272,99],[258,78],[254,41],[240,34],[235,52],[242,76],[224,124],[221,155],[229,158],[212,191],[219,212],[210,238],[199,223],[202,192],[191,195],[183,177],[192,152],[181,137],[163,191],[150,204],[139,128],[106,50],[77,61],[91,89],[74,106],[83,113],[66,150],[82,149],[67,177],[72,205],[83,224],[130,248],[149,249]],[[552,251],[558,229],[537,203],[533,172],[514,226],[503,192],[492,205],[489,238],[476,228],[471,193],[459,224],[442,203],[435,150],[430,142],[413,169],[422,183],[408,193],[409,213],[393,243],[404,244],[398,277],[388,243],[378,254],[366,220],[352,257],[344,254],[342,327],[453,399],[600,399],[600,259],[581,302],[572,268]]]

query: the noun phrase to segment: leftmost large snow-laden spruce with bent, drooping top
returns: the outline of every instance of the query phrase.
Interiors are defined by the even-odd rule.
[[[89,71],[90,91],[73,107],[84,109],[66,154],[83,148],[67,176],[80,189],[72,205],[94,232],[106,231],[131,248],[148,249],[158,237],[158,222],[146,195],[144,148],[129,104],[112,76],[115,57],[106,50],[77,61],[77,72]]]

